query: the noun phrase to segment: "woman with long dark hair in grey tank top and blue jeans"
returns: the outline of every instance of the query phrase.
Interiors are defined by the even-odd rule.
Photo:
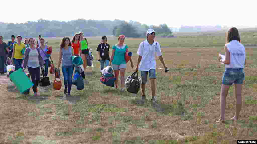
[[[64,94],[67,93],[68,89],[68,96],[70,96],[70,90],[72,85],[72,74],[73,74],[73,64],[72,64],[72,56],[74,56],[73,48],[71,47],[71,42],[68,37],[64,37],[61,42],[60,46],[60,58],[58,69],[62,63],[62,74],[64,78]]]

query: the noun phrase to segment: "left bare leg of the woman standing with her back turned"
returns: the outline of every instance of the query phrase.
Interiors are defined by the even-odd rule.
[[[229,85],[221,85],[221,98],[220,98],[220,109],[221,109],[221,116],[217,122],[221,122],[225,120],[225,108],[227,103],[227,93],[229,90]]]

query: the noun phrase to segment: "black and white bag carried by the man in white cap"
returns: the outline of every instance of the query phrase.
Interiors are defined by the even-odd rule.
[[[140,90],[141,78],[138,77],[137,71],[135,71],[131,76],[127,77],[125,86],[127,91],[133,94],[137,94]]]

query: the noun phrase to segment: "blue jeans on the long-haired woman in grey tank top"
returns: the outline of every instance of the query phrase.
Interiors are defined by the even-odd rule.
[[[62,67],[64,86],[65,86],[65,89],[67,89],[68,87],[68,94],[70,94],[70,90],[71,90],[73,70],[74,70],[73,66]]]

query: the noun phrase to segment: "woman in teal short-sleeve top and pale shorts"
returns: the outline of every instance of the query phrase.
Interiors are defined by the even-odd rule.
[[[125,36],[120,35],[118,37],[119,43],[113,45],[112,57],[110,60],[110,66],[113,67],[114,76],[116,77],[115,88],[118,88],[118,77],[119,72],[121,73],[121,90],[124,91],[125,87],[125,70],[126,70],[126,60],[125,53],[128,52],[128,46],[124,44]],[[132,60],[130,59],[131,68],[134,67]]]

